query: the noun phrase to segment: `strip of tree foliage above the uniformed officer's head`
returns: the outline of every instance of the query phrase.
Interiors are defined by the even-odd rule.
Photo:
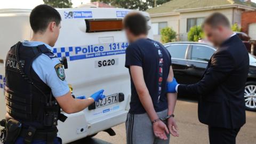
[[[43,0],[45,4],[51,5],[56,8],[69,8],[72,7],[71,0]]]

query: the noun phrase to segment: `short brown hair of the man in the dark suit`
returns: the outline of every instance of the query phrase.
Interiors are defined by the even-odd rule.
[[[209,25],[214,28],[218,26],[230,27],[230,22],[224,14],[215,12],[205,19],[203,27],[205,25]]]

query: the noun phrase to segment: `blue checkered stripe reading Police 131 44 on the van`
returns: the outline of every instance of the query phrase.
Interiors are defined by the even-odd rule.
[[[128,43],[109,43],[101,45],[69,46],[53,48],[58,58],[66,57],[68,61],[105,57],[124,54]]]

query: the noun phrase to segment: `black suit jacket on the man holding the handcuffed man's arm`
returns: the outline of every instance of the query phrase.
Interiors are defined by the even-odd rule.
[[[201,81],[179,85],[178,93],[199,95],[201,123],[237,129],[245,124],[244,89],[248,72],[249,54],[235,35],[212,55]]]

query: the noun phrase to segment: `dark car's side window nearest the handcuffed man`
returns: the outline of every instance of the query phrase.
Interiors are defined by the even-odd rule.
[[[187,44],[173,44],[166,48],[170,52],[172,58],[185,59],[187,47]]]

